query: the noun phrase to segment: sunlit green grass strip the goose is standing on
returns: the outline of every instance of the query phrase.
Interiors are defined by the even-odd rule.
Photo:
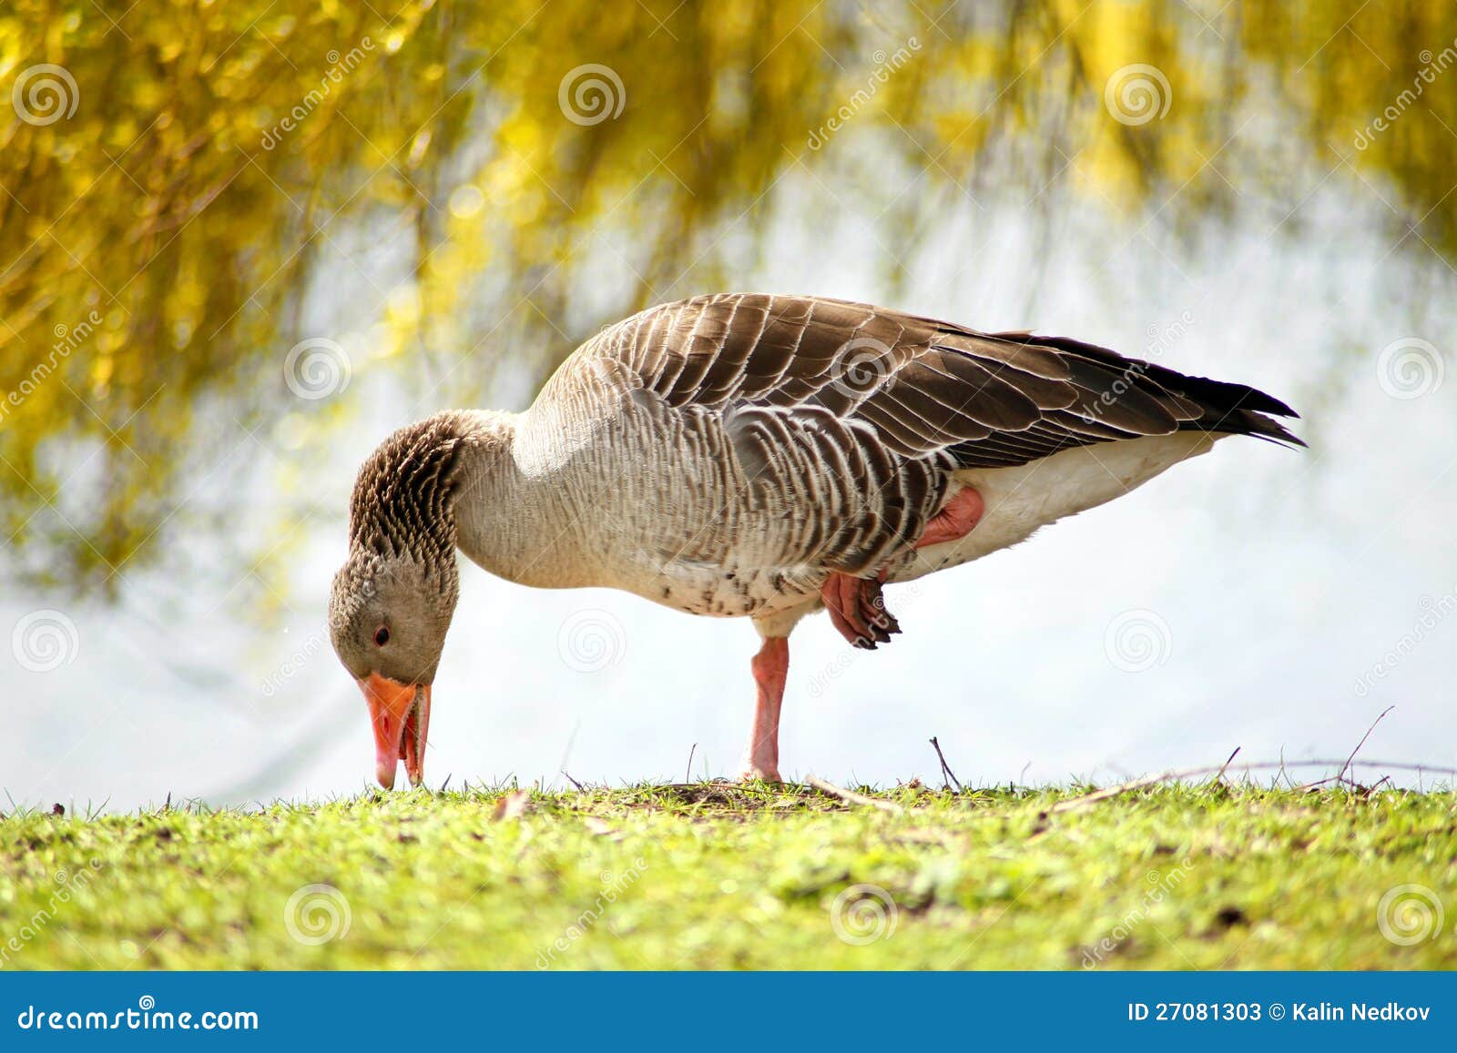
[[[0,969],[1457,967],[1450,791],[504,795],[10,816]]]

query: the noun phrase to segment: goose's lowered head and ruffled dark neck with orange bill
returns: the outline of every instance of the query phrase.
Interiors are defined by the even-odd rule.
[[[455,613],[453,478],[457,422],[401,428],[364,462],[350,504],[350,553],[334,575],[329,636],[358,683],[374,733],[374,775],[425,775],[430,687]]]

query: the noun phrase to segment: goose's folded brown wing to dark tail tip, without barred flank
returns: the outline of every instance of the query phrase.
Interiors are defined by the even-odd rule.
[[[861,303],[726,294],[664,304],[602,348],[670,406],[790,411],[870,425],[900,457],[1021,465],[1180,428],[1300,443],[1289,406],[1064,338],[982,334]],[[779,417],[782,414],[777,414]]]

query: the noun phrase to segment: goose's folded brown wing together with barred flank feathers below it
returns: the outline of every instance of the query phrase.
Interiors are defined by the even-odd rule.
[[[1298,441],[1260,415],[1289,409],[1241,384],[842,300],[696,297],[580,354],[638,401],[715,417],[750,484],[814,510],[785,559],[852,574],[921,536],[957,468],[1179,428]]]

